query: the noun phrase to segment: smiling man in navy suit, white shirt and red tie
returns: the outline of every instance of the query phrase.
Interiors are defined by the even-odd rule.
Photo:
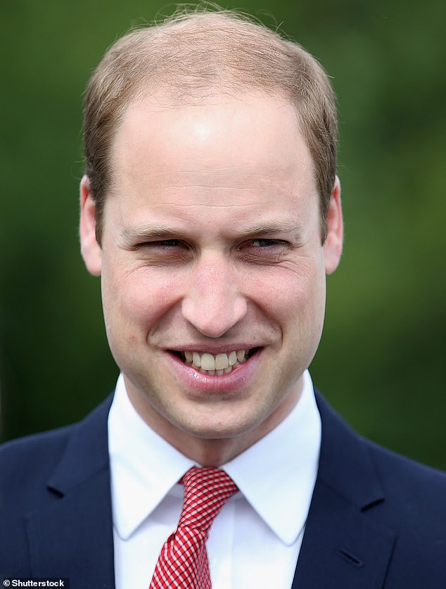
[[[3,576],[445,587],[446,477],[359,438],[307,372],[343,243],[314,58],[231,13],[137,30],[89,82],[84,143],[82,256],[121,375],[82,423],[1,450]],[[200,531],[197,473],[226,493],[203,491]]]

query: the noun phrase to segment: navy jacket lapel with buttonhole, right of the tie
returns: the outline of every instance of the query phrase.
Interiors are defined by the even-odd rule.
[[[361,438],[317,398],[321,455],[292,589],[378,589],[383,586],[395,536],[371,514],[383,501]]]

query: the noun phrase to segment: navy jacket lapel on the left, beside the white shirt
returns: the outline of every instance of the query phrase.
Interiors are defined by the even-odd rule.
[[[48,483],[53,501],[25,519],[35,577],[71,577],[79,588],[115,587],[109,408],[110,398],[75,426]]]

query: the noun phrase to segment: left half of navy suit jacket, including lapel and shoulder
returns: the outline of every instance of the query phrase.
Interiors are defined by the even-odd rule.
[[[98,583],[98,571],[113,579],[110,401],[82,422],[0,446],[0,578],[39,571],[113,586]]]

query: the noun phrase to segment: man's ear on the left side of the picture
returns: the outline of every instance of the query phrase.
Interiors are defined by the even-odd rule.
[[[96,205],[91,196],[90,181],[84,176],[80,182],[80,251],[87,270],[99,276],[101,274],[102,250],[96,240]]]

